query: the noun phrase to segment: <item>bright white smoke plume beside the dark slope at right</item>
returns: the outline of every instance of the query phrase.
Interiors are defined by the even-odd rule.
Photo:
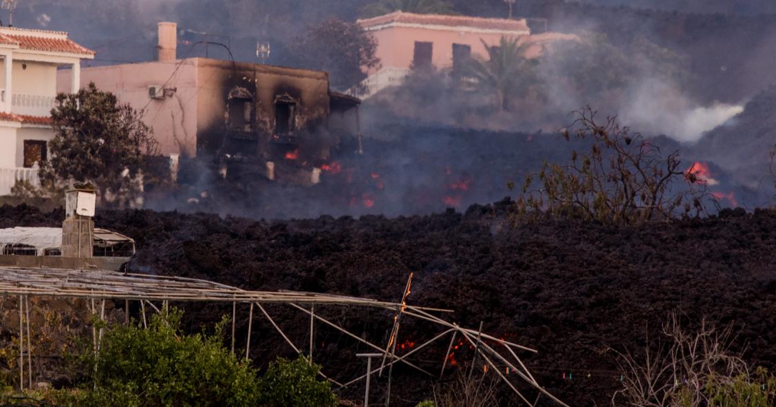
[[[692,143],[703,134],[743,112],[743,105],[714,103],[698,106],[670,83],[647,79],[632,89],[620,113],[622,122],[645,134],[666,134]]]

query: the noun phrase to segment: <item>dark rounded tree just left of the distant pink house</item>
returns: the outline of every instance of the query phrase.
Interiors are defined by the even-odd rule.
[[[307,28],[289,45],[292,64],[328,71],[331,86],[349,89],[366,78],[363,69],[379,66],[377,41],[359,24],[327,19]]]

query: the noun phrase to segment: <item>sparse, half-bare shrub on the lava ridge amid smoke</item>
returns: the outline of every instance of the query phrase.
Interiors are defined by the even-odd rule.
[[[518,217],[549,215],[639,224],[703,210],[702,193],[696,190],[693,175],[685,176],[679,169],[678,151],[663,156],[639,134],[620,127],[615,117],[598,123],[589,107],[575,113],[577,120],[564,136],[587,140],[590,150],[575,150],[570,164],[545,162],[538,174],[525,176],[516,200]],[[534,187],[537,178],[538,189]],[[675,189],[677,180],[684,180],[687,186]]]

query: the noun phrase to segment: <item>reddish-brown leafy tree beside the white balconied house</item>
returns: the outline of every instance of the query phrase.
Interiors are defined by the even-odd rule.
[[[40,178],[49,185],[57,180],[92,183],[108,202],[136,192],[144,156],[156,151],[142,117],[94,83],[78,93],[60,93],[51,110],[56,133],[49,142],[52,154],[41,165]]]

